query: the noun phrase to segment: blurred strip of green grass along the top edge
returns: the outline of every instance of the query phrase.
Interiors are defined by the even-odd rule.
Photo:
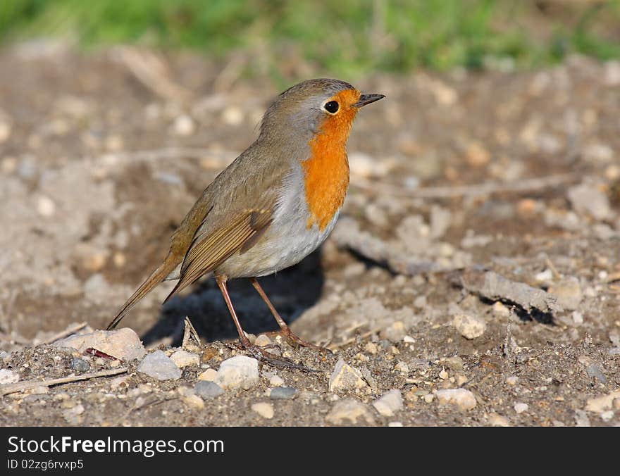
[[[61,37],[85,48],[130,43],[246,51],[356,76],[411,68],[533,68],[581,53],[620,57],[620,1],[0,0],[0,42]]]

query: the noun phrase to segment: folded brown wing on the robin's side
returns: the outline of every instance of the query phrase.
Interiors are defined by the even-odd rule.
[[[236,251],[243,253],[254,246],[271,225],[276,201],[275,190],[268,189],[256,201],[256,206],[234,213],[215,229],[204,231],[201,225],[183,259],[179,281],[166,301],[202,275],[213,271]],[[204,221],[210,219],[207,214]]]

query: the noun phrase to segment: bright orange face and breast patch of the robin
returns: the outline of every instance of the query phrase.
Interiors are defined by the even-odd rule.
[[[340,111],[325,118],[320,131],[309,143],[311,156],[302,163],[306,202],[311,213],[309,228],[316,223],[319,230],[325,230],[345,202],[349,187],[347,139],[357,113],[352,105],[359,95],[356,89],[336,94],[333,100],[340,103]]]

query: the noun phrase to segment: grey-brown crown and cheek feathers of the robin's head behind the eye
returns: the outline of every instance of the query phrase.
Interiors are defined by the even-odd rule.
[[[347,89],[355,88],[348,82],[326,78],[295,84],[280,93],[263,115],[259,140],[278,137],[307,144],[325,117],[323,103]]]

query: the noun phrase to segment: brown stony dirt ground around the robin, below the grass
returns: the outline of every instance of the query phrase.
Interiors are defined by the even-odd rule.
[[[40,342],[75,322],[107,325],[200,191],[252,142],[278,92],[190,54],[163,58],[151,81],[118,51],[18,45],[0,54],[0,363],[20,381],[75,372],[75,352]],[[171,84],[187,95],[171,97]],[[202,338],[200,365],[159,382],[129,362],[120,385],[101,377],[9,394],[0,423],[331,425],[335,403],[352,398],[371,418],[346,424],[619,425],[620,399],[593,399],[620,385],[620,64],[571,58],[531,72],[417,72],[356,85],[387,98],[356,119],[343,215],[385,249],[440,270],[399,274],[331,237],[262,282],[294,332],[334,354],[276,339],[317,372],[262,365],[256,387],[204,399],[204,408],[179,389],[239,352],[235,327],[213,280],[162,307],[166,282],[123,325],[147,349],[170,351],[187,315]],[[514,191],[556,175],[565,179]],[[495,192],[476,193],[491,182]],[[593,197],[571,198],[579,184]],[[449,193],[464,185],[469,192]],[[424,198],[430,187],[448,192]],[[459,284],[481,269],[543,289],[563,310],[496,303]],[[233,282],[231,295],[247,332],[277,328],[249,283]],[[485,330],[467,339],[457,314]],[[82,358],[90,371],[116,365]],[[330,392],[339,358],[361,370],[366,390]],[[297,389],[294,399],[269,399],[274,373]],[[440,402],[436,392],[448,388],[472,392],[475,408]],[[371,403],[391,389],[404,406],[387,417]],[[273,418],[252,410],[261,401]]]

